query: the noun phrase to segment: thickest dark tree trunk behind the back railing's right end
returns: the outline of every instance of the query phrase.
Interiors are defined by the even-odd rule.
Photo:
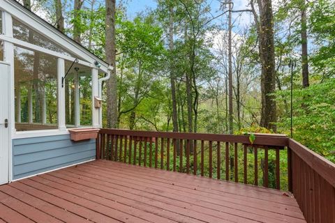
[[[258,49],[262,66],[260,80],[262,93],[260,126],[276,131],[276,101],[273,95],[276,90],[276,79],[272,3],[271,0],[258,0],[259,18],[253,0],[251,0],[251,8],[258,32]]]

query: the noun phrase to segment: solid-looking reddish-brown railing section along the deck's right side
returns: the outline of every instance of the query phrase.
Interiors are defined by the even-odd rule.
[[[335,222],[335,164],[288,141],[289,189],[309,222]]]

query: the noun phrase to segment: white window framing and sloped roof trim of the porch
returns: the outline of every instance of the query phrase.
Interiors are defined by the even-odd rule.
[[[22,40],[18,40],[16,38],[13,38],[13,20],[11,13],[8,13],[6,11],[7,6],[12,6],[12,4],[9,3],[10,1],[6,0],[0,0],[0,10],[2,11],[3,15],[3,33],[0,33],[0,40],[3,40],[3,47],[4,47],[4,56],[6,58],[6,62],[10,63],[10,123],[13,123],[11,126],[11,138],[12,139],[21,139],[21,138],[30,138],[30,137],[43,137],[43,136],[53,136],[53,135],[59,135],[59,134],[69,134],[67,128],[66,128],[66,114],[65,114],[65,89],[61,87],[61,79],[65,76],[65,60],[68,61],[75,61],[75,58],[73,56],[68,56],[65,54],[61,54],[59,52],[54,52],[50,49],[45,49],[43,47],[40,47],[38,45],[34,45],[31,43],[24,42]],[[4,3],[4,4],[3,4]],[[14,8],[11,8],[13,11]],[[17,12],[17,8],[15,8],[15,19],[27,24],[29,20],[33,22],[33,24],[28,25],[29,27],[34,26],[36,27],[36,30],[38,33],[42,33],[38,31],[38,28],[40,29],[46,29],[46,32],[43,33],[47,35],[48,39],[50,39],[53,42],[58,43],[62,47],[65,46],[66,49],[71,49],[70,52],[75,55],[81,55],[81,58],[84,58],[86,61],[78,60],[78,63],[84,66],[88,66],[91,68],[91,77],[92,77],[92,95],[91,95],[91,101],[92,101],[92,126],[94,128],[101,128],[102,121],[101,118],[99,118],[102,108],[95,108],[94,107],[94,98],[99,96],[99,87],[98,87],[98,72],[101,70],[102,72],[108,72],[110,68],[105,65],[105,62],[101,61],[100,59],[94,58],[94,56],[89,55],[88,52],[84,52],[85,50],[80,49],[79,46],[75,46],[74,43],[70,43],[68,41],[64,41],[66,38],[63,37],[63,35],[60,35],[59,33],[56,33],[52,35],[50,32],[50,27],[43,26],[43,24],[39,21],[36,21],[36,18],[29,17],[27,13],[24,13],[20,10]],[[22,19],[19,19],[18,17]],[[26,20],[27,19],[27,20]],[[25,22],[23,22],[25,20]],[[35,26],[36,24],[36,26]],[[57,57],[57,120],[58,120],[58,129],[57,130],[31,130],[31,131],[22,131],[17,132],[15,130],[15,86],[14,86],[14,47],[24,47],[26,49],[31,49],[36,52],[42,52],[44,54],[49,54],[51,56]],[[84,54],[82,54],[84,52]],[[84,55],[84,56],[82,56]],[[100,68],[97,68],[95,65],[95,62],[98,61],[101,64]]]

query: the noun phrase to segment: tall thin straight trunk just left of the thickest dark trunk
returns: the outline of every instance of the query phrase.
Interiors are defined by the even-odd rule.
[[[228,14],[228,86],[229,86],[229,134],[234,132],[232,126],[232,4],[229,5]]]

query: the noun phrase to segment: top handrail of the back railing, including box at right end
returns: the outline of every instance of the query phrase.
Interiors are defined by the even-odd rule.
[[[207,140],[207,141],[225,141],[237,142],[241,144],[251,144],[248,135],[236,134],[207,134],[207,133],[189,133],[189,132],[154,132],[140,130],[120,130],[120,129],[101,129],[102,134],[133,135],[136,137],[160,137],[174,139]],[[253,145],[257,146],[288,146],[288,137],[281,135],[256,135]]]

